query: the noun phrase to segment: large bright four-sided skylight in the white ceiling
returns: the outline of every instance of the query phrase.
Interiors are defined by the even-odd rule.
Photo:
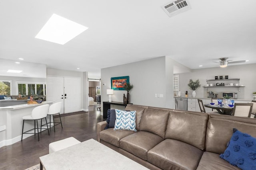
[[[53,14],[36,38],[63,45],[86,29],[88,27]]]

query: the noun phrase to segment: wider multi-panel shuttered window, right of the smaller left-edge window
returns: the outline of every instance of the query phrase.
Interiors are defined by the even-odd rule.
[[[18,83],[18,93],[27,96],[40,95],[45,96],[46,84],[40,83]]]

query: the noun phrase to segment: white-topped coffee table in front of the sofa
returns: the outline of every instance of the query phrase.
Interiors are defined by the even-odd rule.
[[[148,170],[126,156],[89,139],[40,157],[40,170]]]

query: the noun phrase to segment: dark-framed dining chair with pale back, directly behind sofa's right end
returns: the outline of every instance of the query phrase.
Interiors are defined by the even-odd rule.
[[[235,103],[233,116],[251,117],[253,103]]]

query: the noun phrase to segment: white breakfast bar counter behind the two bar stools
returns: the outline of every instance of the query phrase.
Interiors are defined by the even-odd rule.
[[[22,117],[30,115],[32,110],[40,105],[52,104],[54,101],[45,101],[40,104],[20,104],[14,106],[0,107],[0,147],[12,145],[21,141]],[[48,121],[48,119],[47,119]],[[42,124],[46,123],[44,120]],[[40,122],[38,122],[40,124]],[[34,121],[26,121],[24,131],[34,128]],[[33,134],[24,134],[23,139]]]

